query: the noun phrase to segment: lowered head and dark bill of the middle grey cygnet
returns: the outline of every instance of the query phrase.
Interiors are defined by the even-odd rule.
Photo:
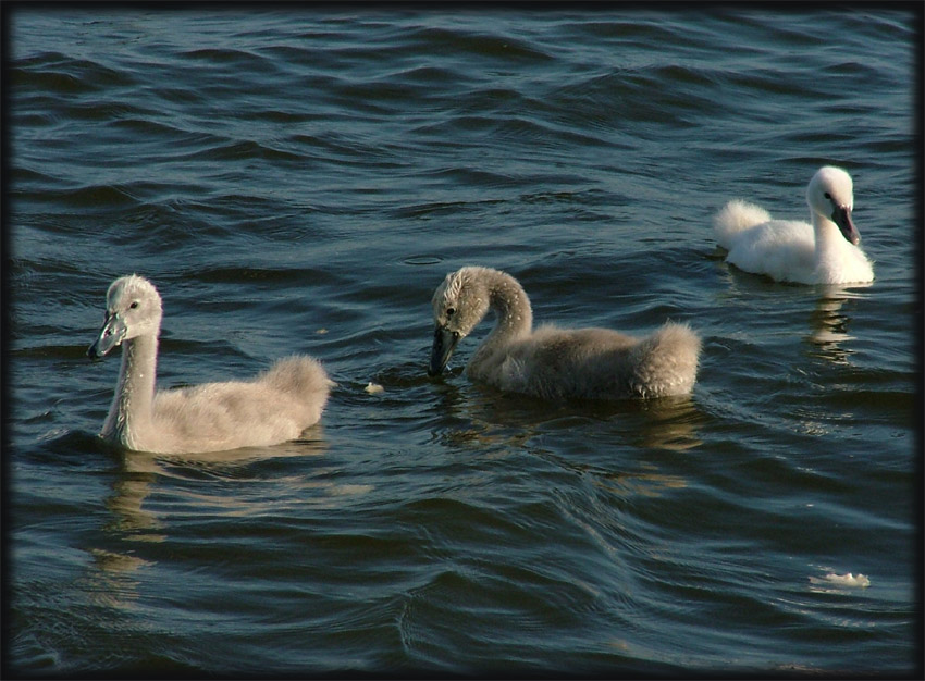
[[[489,311],[489,292],[481,268],[462,268],[446,275],[433,294],[433,346],[428,375],[443,372],[460,339],[469,335]]]

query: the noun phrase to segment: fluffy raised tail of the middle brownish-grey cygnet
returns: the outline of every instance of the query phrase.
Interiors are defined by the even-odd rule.
[[[688,324],[668,322],[633,348],[633,392],[640,397],[690,394],[700,350],[700,336]]]

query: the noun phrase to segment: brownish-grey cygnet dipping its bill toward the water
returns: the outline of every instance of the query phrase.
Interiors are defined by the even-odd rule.
[[[701,340],[687,324],[666,323],[645,338],[609,329],[534,331],[523,287],[499,270],[466,267],[447,274],[432,305],[432,376],[493,310],[495,327],[466,372],[502,391],[550,400],[649,398],[687,395],[696,379]]]

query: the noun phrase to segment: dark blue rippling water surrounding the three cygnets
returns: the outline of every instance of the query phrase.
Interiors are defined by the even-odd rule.
[[[920,7],[7,17],[7,673],[921,673]],[[723,202],[805,218],[829,162],[872,286],[723,262]],[[498,394],[488,324],[429,380],[464,264],[689,321],[693,395]],[[309,352],[322,423],[104,447],[131,272],[161,386]]]

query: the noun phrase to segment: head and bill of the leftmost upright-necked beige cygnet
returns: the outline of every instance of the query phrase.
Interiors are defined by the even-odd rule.
[[[103,357],[123,340],[157,336],[161,327],[161,297],[148,280],[132,274],[115,280],[106,294],[102,329],[87,355]]]

